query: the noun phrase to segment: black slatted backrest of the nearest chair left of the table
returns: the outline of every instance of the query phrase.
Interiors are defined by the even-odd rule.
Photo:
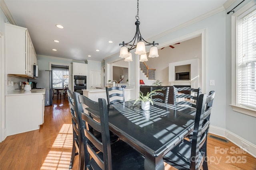
[[[94,163],[98,164],[98,166],[102,170],[111,170],[112,169],[112,158],[111,158],[111,147],[110,147],[110,133],[108,128],[108,108],[106,104],[106,100],[99,98],[98,102],[94,102],[87,98],[86,96],[79,96],[79,102],[86,105],[85,108],[89,113],[98,112],[100,114],[100,123],[95,121],[90,115],[86,113],[82,113],[82,120],[86,122],[86,124],[90,125],[94,130],[101,133],[102,141],[97,139],[94,134],[86,128],[83,128],[83,140],[86,144],[87,156],[85,156],[85,166],[88,169],[91,169],[90,157],[95,161]],[[103,156],[100,157],[92,146],[92,143],[100,152],[102,152]]]

